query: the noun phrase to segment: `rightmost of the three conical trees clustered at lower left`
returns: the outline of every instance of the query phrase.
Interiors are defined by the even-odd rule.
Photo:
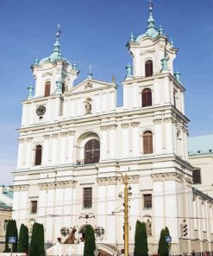
[[[31,236],[30,256],[44,256],[44,226],[43,224],[34,222],[33,232]]]

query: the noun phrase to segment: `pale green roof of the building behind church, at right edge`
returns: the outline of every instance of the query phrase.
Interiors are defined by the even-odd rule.
[[[188,138],[189,155],[213,154],[213,134]]]

